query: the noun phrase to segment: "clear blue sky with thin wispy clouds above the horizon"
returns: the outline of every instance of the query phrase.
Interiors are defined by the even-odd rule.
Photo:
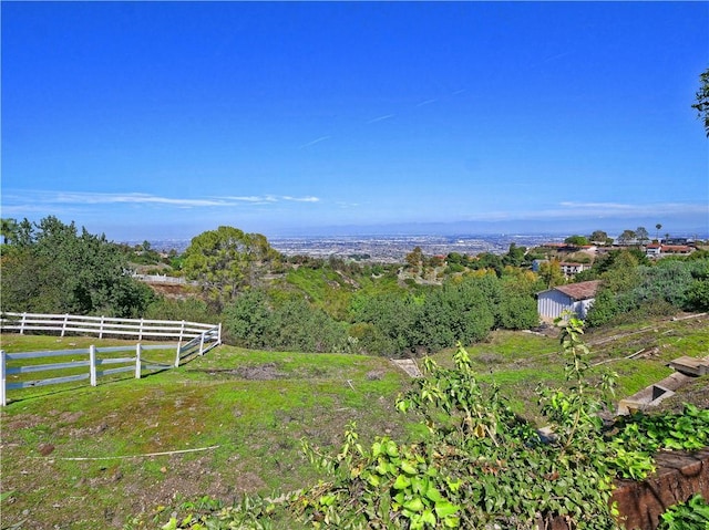
[[[709,233],[707,2],[8,2],[2,217]]]

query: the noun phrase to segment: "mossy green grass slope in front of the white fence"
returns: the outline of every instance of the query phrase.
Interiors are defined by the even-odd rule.
[[[22,341],[37,349],[20,335],[3,335],[2,347],[25,350]],[[318,474],[298,440],[335,447],[349,420],[407,436],[393,398],[408,384],[380,357],[222,346],[140,381],[12,393],[3,528],[120,528],[181,498],[232,502],[309,484]]]

